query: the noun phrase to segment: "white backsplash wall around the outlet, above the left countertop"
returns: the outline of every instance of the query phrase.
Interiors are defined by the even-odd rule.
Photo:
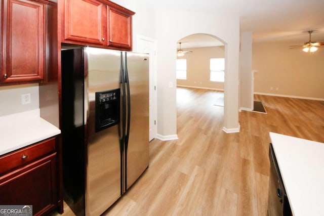
[[[30,93],[31,103],[22,104],[21,95]],[[39,108],[38,83],[0,87],[0,116]]]

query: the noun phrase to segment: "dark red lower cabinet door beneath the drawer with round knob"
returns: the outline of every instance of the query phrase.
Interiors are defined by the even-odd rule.
[[[53,211],[56,196],[56,153],[0,177],[0,203],[32,205],[33,214]]]

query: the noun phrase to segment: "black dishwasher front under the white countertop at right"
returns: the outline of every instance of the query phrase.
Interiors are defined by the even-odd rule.
[[[288,197],[281,179],[280,170],[274,155],[272,144],[269,145],[270,179],[268,197],[268,216],[292,215]]]

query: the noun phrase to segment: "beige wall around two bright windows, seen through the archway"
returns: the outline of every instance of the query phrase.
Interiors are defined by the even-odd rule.
[[[192,51],[177,59],[187,60],[187,79],[177,79],[177,85],[186,87],[224,90],[224,82],[210,81],[210,59],[225,58],[225,47],[182,49]]]

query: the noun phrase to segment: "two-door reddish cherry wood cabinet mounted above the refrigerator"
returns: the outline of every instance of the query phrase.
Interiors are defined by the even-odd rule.
[[[60,10],[62,42],[132,50],[134,12],[106,0],[65,0]]]

